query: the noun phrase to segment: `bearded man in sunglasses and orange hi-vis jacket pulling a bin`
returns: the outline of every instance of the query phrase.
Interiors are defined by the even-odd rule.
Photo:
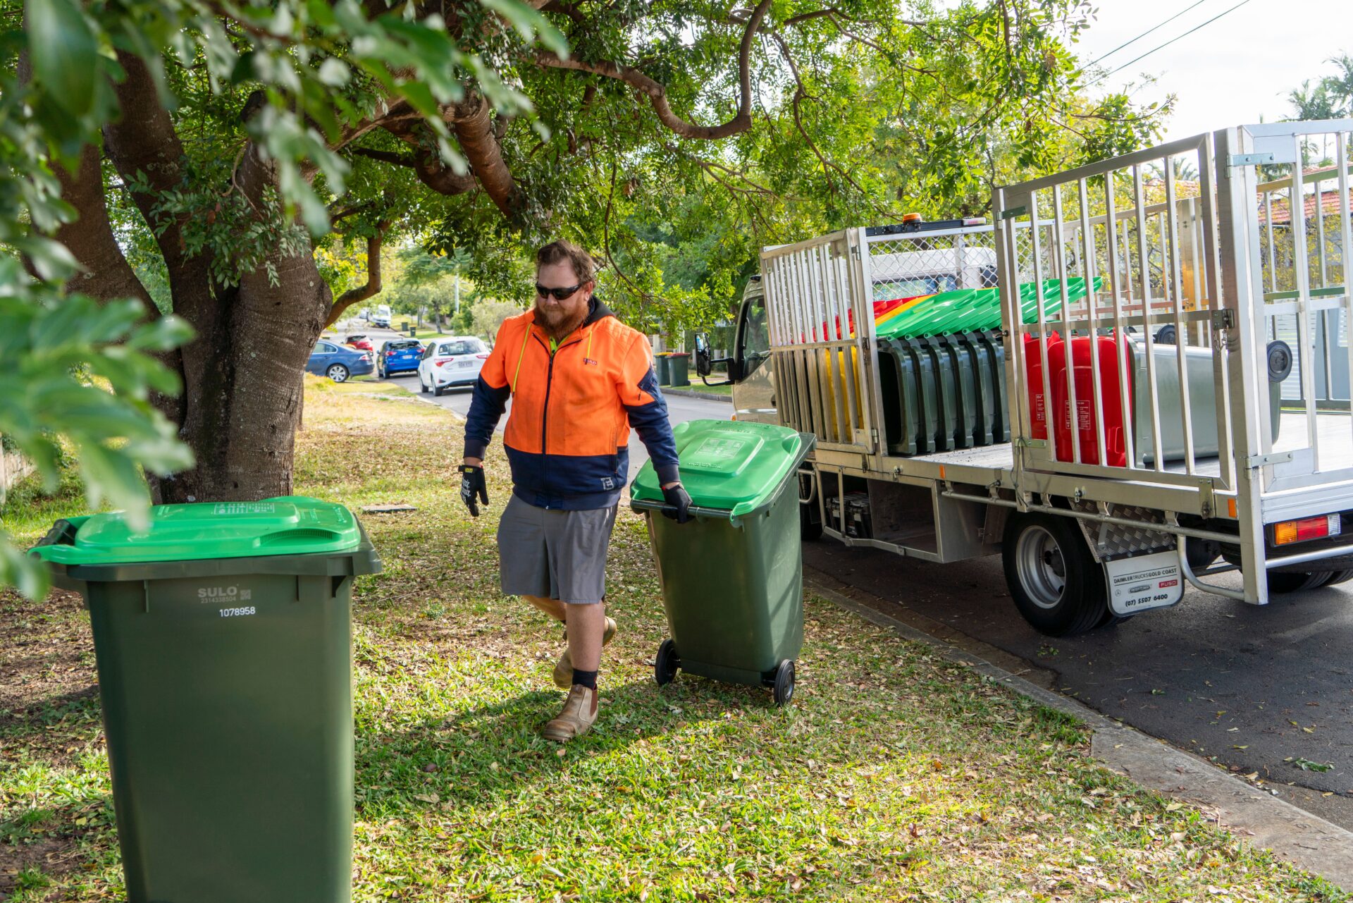
[[[593,298],[593,259],[556,241],[536,253],[536,306],[498,330],[465,421],[460,495],[469,513],[488,502],[483,456],[510,397],[503,447],[513,494],[498,523],[499,579],[564,623],[568,647],[555,684],[568,689],[547,738],[567,742],[597,720],[606,617],[606,548],[629,474],[629,425],[648,448],[670,517],[689,520],[676,445],[643,333]]]

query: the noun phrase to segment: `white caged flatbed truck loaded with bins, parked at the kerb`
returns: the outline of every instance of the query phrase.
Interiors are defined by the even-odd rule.
[[[1046,635],[1346,581],[1350,133],[1237,126],[996,187],[990,222],[764,248],[697,372],[817,437],[805,539],[1001,555]]]

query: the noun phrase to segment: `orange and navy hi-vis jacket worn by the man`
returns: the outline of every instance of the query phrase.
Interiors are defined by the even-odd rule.
[[[629,426],[662,482],[676,479],[676,444],[648,340],[595,298],[583,325],[551,353],[526,311],[506,320],[475,383],[465,456],[483,458],[507,398],[503,445],[514,493],[537,508],[610,508],[629,474]]]

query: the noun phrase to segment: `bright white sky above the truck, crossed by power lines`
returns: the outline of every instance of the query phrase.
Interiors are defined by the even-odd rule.
[[[1108,56],[1103,66],[1130,62],[1170,38],[1183,35],[1239,0],[1203,0],[1173,22]],[[1099,14],[1074,49],[1085,62],[1169,19],[1195,0],[1100,0]],[[1303,80],[1334,74],[1325,62],[1353,53],[1353,0],[1249,0],[1193,34],[1157,50],[1095,88],[1123,89],[1142,73],[1157,77],[1134,100],[1176,95],[1164,141],[1201,131],[1287,118],[1287,93]]]

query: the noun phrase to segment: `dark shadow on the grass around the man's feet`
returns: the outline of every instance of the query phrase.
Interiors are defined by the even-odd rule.
[[[557,780],[580,761],[717,719],[729,708],[770,705],[762,690],[686,677],[670,688],[651,680],[603,685],[601,695],[597,724],[567,745],[540,735],[561,707],[560,690],[532,690],[396,734],[359,736],[360,818],[414,815],[437,806],[483,807],[521,785]]]

